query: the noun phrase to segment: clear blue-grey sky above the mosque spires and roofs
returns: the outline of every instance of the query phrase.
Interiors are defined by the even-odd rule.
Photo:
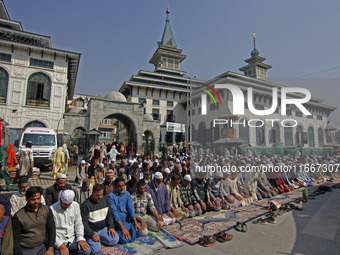
[[[162,37],[166,6],[188,76],[241,73],[256,48],[272,65],[269,80],[305,87],[340,108],[338,0],[4,0],[27,32],[81,53],[76,93],[104,96],[149,63]],[[340,128],[340,111],[331,115]]]

